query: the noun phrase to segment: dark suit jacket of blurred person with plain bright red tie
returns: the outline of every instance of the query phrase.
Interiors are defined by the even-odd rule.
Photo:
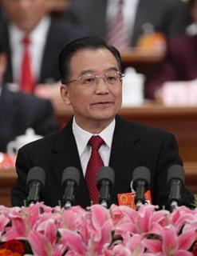
[[[2,27],[1,34],[6,46],[6,54],[8,57],[8,66],[4,77],[5,82],[16,82],[13,78],[13,70],[11,64],[11,49],[10,38],[8,34],[9,22]],[[49,32],[45,38],[45,48],[41,60],[40,76],[37,83],[52,83],[60,80],[60,73],[58,69],[59,53],[65,45],[74,39],[81,38],[87,35],[87,30],[81,26],[74,26],[70,22],[61,19],[52,19]]]

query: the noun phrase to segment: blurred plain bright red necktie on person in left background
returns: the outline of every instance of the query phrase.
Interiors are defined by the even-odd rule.
[[[22,58],[22,76],[21,76],[21,88],[26,93],[32,93],[34,88],[33,74],[31,70],[30,59],[30,40],[29,38],[23,38],[23,58]]]

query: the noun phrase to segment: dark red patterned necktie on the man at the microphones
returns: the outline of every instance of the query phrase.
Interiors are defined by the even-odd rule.
[[[104,166],[104,162],[98,152],[100,146],[104,143],[100,136],[93,136],[89,139],[89,145],[92,146],[92,154],[89,158],[85,180],[89,189],[89,197],[93,203],[98,203],[99,191],[97,190],[97,172],[100,167]]]

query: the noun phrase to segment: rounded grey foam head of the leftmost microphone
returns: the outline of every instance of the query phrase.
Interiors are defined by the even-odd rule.
[[[45,186],[45,170],[39,166],[32,167],[26,178],[26,185],[29,187],[31,182],[40,182],[41,186]]]

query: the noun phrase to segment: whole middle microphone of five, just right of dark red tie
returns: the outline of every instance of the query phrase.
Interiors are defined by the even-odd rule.
[[[103,166],[97,174],[97,189],[100,191],[100,205],[108,208],[110,193],[114,185],[114,170],[111,167]]]

